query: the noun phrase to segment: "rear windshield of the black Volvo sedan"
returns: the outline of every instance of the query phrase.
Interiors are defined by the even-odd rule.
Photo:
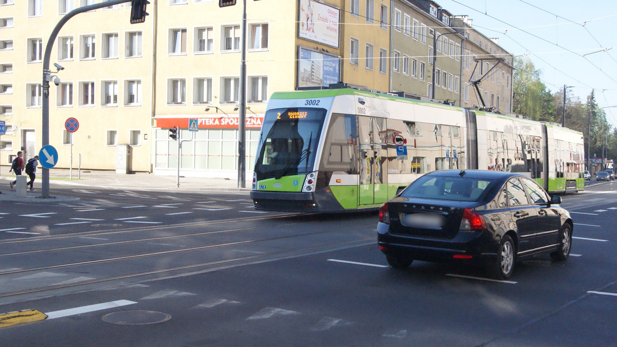
[[[422,176],[400,196],[453,201],[479,201],[482,193],[491,189],[494,181],[481,178]]]

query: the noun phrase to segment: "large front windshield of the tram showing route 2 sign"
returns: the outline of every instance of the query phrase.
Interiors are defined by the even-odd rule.
[[[268,110],[257,147],[257,179],[312,172],[325,117],[324,108]]]

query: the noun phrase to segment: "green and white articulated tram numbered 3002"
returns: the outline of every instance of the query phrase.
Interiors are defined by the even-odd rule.
[[[582,190],[582,134],[536,121],[350,88],[276,92],[251,198],[258,210],[376,209],[440,169],[528,174]]]

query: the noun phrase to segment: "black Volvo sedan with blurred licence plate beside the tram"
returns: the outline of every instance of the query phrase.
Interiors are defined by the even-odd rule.
[[[516,261],[568,259],[573,222],[560,203],[523,174],[433,171],[381,207],[379,249],[400,269],[413,260],[461,261],[507,279]]]

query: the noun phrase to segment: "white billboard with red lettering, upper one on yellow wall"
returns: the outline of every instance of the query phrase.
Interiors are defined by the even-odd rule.
[[[300,0],[298,37],[339,47],[340,10],[313,0]]]

